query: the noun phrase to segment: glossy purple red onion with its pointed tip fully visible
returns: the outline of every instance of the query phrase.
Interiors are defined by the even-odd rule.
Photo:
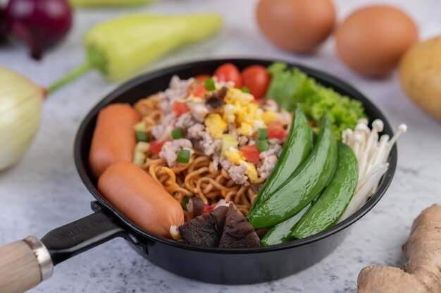
[[[32,58],[58,44],[72,24],[66,0],[10,0],[6,18],[13,34],[30,47]]]

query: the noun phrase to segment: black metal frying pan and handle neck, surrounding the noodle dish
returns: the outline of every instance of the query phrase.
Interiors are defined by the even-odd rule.
[[[127,239],[139,254],[142,254],[156,266],[194,280],[222,284],[250,284],[277,280],[304,270],[330,254],[343,241],[348,231],[347,227],[366,215],[378,203],[387,187],[389,187],[395,173],[397,164],[396,146],[390,152],[388,158],[389,169],[383,176],[377,192],[359,211],[325,232],[286,244],[254,249],[193,247],[144,232],[125,218],[116,208],[113,208],[98,192],[96,180],[87,166],[89,146],[99,110],[112,103],[134,104],[139,99],[166,89],[173,75],[189,78],[199,74],[212,74],[218,66],[226,62],[234,63],[242,69],[254,64],[269,66],[273,61],[218,59],[185,63],[148,73],[126,82],[111,94],[108,94],[87,114],[77,132],[74,155],[78,173],[89,192],[96,199],[92,202],[94,213],[52,230],[41,239],[41,242],[35,237],[25,239],[27,247],[32,248],[34,254],[37,254],[40,281],[49,278],[52,271],[51,265],[55,266],[76,254],[80,254],[82,251],[96,247],[115,237]],[[361,101],[370,120],[376,118],[383,120],[384,133],[392,137],[392,129],[383,113],[356,89],[321,71],[297,64],[290,64],[290,66],[297,66],[322,85],[332,87],[336,92]],[[22,242],[14,242],[14,244],[17,243]],[[11,245],[13,244],[9,244],[9,246]],[[5,249],[5,247],[0,248],[0,259],[2,249]],[[0,272],[1,266],[0,263]],[[37,283],[32,286],[37,285]]]

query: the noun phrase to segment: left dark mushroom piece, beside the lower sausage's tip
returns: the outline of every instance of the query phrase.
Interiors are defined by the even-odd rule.
[[[228,208],[219,206],[180,225],[180,237],[188,244],[198,247],[218,247]]]

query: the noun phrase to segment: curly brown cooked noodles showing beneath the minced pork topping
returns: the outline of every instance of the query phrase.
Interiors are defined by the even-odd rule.
[[[154,139],[151,137],[151,128],[160,123],[164,116],[158,96],[139,100],[135,110],[146,122],[149,139]],[[218,201],[225,199],[227,203],[233,201],[239,211],[247,215],[251,203],[256,199],[257,194],[249,185],[237,185],[227,170],[217,169],[210,156],[199,151],[194,151],[189,163],[179,163],[173,167],[168,167],[166,160],[158,154],[147,152],[142,168],[180,202],[185,197],[199,197],[204,204],[216,206]],[[185,221],[192,219],[187,211],[184,216]]]

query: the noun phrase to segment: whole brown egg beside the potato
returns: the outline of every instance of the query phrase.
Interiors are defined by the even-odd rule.
[[[403,11],[391,6],[368,6],[337,28],[337,54],[349,68],[368,77],[384,77],[418,41],[418,29]]]

